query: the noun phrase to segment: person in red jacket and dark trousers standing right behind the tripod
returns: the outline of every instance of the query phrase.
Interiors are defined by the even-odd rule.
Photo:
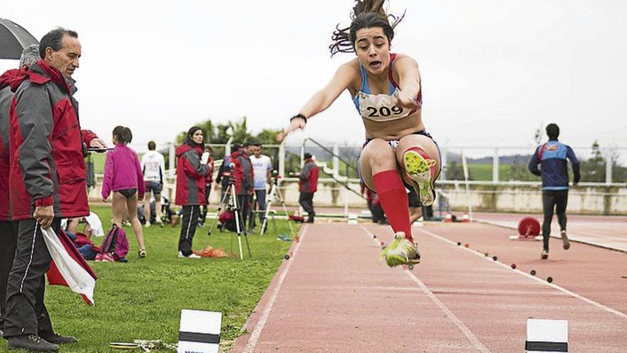
[[[246,221],[250,212],[250,203],[254,193],[254,175],[252,163],[248,155],[248,146],[235,145],[235,152],[231,153],[233,173],[235,174],[235,194],[237,205],[242,212],[242,226],[246,229]]]

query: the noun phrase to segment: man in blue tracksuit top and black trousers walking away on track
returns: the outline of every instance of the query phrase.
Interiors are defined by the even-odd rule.
[[[542,177],[542,208],[544,209],[544,222],[542,222],[542,237],[544,247],[541,259],[549,258],[549,235],[551,235],[551,220],[553,209],[556,208],[561,241],[564,250],[569,250],[570,243],[566,237],[566,204],[568,203],[569,175],[566,159],[573,165],[573,186],[579,183],[579,160],[577,160],[572,148],[557,140],[559,126],[549,124],[546,126],[546,135],[549,141],[536,148],[532,160],[529,160],[529,171]],[[538,169],[541,165],[541,169]]]

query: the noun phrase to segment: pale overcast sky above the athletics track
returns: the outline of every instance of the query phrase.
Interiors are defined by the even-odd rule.
[[[78,31],[81,124],[107,140],[129,126],[134,145],[167,143],[207,118],[282,128],[354,56],[327,49],[350,0],[0,2],[0,16],[37,39],[55,26]],[[423,121],[441,145],[531,146],[554,122],[570,145],[627,146],[627,1],[388,4],[407,9],[393,51],[418,61]],[[304,134],[361,143],[348,93]]]

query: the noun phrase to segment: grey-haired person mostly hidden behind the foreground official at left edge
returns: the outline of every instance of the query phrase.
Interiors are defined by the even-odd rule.
[[[24,76],[28,66],[39,59],[39,45],[24,48],[19,68],[6,71],[0,76],[0,330],[4,326],[6,312],[6,281],[13,266],[18,235],[18,222],[11,221],[9,205],[9,111],[13,93],[11,81]]]

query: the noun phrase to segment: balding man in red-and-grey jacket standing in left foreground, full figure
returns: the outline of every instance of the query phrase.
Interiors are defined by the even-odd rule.
[[[59,231],[61,218],[89,215],[85,147],[105,143],[81,131],[76,86],[78,34],[54,29],[40,41],[41,60],[11,82],[9,188],[11,216],[19,221],[15,259],[6,289],[4,337],[9,349],[39,352],[76,342],[55,334],[43,304],[51,264],[41,228]]]

